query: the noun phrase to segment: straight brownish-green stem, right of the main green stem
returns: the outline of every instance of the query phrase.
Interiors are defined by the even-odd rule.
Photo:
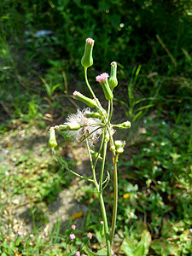
[[[114,183],[114,195],[113,195],[113,218],[112,227],[110,232],[110,243],[112,244],[114,230],[116,226],[117,219],[117,206],[118,206],[118,173],[117,173],[117,161],[118,155],[113,156],[113,183]]]

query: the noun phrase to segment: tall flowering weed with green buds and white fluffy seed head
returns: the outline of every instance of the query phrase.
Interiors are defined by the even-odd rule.
[[[55,147],[57,146],[55,132],[59,134],[66,134],[68,137],[71,137],[73,140],[78,143],[85,143],[88,154],[90,157],[90,167],[92,171],[92,177],[84,177],[79,175],[79,173],[74,172],[64,166],[67,171],[72,172],[77,177],[80,177],[86,181],[94,183],[96,186],[96,191],[99,195],[99,201],[102,212],[102,220],[104,226],[104,236],[106,239],[107,255],[112,255],[112,244],[113,236],[116,226],[117,218],[117,207],[118,207],[118,172],[117,172],[117,163],[119,154],[123,153],[125,147],[125,141],[114,141],[113,134],[114,128],[127,129],[131,127],[129,121],[125,121],[122,124],[113,125],[111,123],[113,115],[113,89],[117,86],[117,63],[113,61],[111,63],[111,73],[110,77],[108,73],[102,73],[99,76],[96,76],[96,81],[101,84],[102,90],[106,100],[108,101],[108,109],[102,108],[102,104],[99,99],[96,97],[94,90],[92,90],[90,83],[87,77],[88,67],[93,65],[92,51],[95,41],[92,38],[87,38],[85,42],[84,55],[81,60],[81,64],[84,67],[84,79],[85,83],[90,90],[92,98],[82,95],[79,91],[75,90],[73,92],[73,98],[84,102],[87,107],[84,110],[77,110],[77,113],[71,113],[64,124],[55,125],[49,129],[49,148],[52,149],[53,154],[55,155],[56,160],[58,160],[61,165],[63,162],[55,154]],[[93,108],[94,111],[90,111],[90,108]],[[100,146],[97,152],[93,151],[95,143],[99,143]],[[105,161],[107,149],[112,152],[113,158],[113,216],[112,224],[109,230],[108,227],[108,216],[105,208],[105,203],[103,200],[103,190],[106,189],[110,180],[110,172],[105,169]],[[96,167],[98,160],[102,160],[102,166],[99,173],[99,178],[96,177]],[[90,249],[85,246],[84,251],[90,253]],[[94,254],[95,255],[95,254]]]

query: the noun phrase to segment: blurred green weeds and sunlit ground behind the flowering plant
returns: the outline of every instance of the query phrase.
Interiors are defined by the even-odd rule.
[[[0,13],[1,255],[83,255],[87,242],[93,252],[106,249],[96,190],[47,147],[49,127],[84,108],[72,93],[88,93],[85,38],[96,42],[89,74],[96,95],[105,102],[95,78],[117,61],[113,122],[131,121],[130,131],[114,134],[126,145],[113,252],[190,255],[191,1],[4,0]],[[63,137],[58,144],[64,165],[89,175],[84,147]],[[104,198],[110,223],[113,183]]]

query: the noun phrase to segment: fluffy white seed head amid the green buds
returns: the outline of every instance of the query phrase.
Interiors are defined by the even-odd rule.
[[[85,113],[90,113],[90,108],[85,108],[77,113],[72,113],[67,117],[67,122],[64,125],[80,125],[81,128],[77,131],[68,131],[69,137],[72,137],[77,142],[82,142],[85,137],[88,139],[90,146],[96,143],[98,138],[102,135],[102,127],[100,119],[86,118]],[[100,128],[101,127],[101,128]]]

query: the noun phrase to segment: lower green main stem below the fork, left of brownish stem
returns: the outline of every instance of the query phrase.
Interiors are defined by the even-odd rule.
[[[99,193],[99,201],[100,201],[101,210],[102,210],[102,220],[104,222],[104,232],[105,232],[108,256],[111,256],[111,243],[110,243],[109,235],[108,235],[108,218],[107,218],[107,214],[106,214],[106,210],[105,210],[105,204],[104,204],[104,201],[102,198],[102,193]]]

